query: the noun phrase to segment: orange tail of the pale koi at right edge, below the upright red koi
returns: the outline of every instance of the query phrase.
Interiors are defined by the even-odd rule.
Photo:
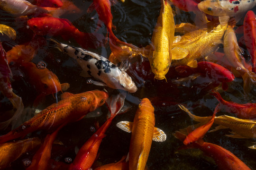
[[[253,90],[256,87],[256,74],[252,71],[247,71],[242,75],[244,81],[244,92],[246,95],[249,93],[256,93]]]

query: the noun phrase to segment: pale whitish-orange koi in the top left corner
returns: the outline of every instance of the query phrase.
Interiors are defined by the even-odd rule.
[[[42,7],[37,7],[27,0],[0,0],[0,8],[14,15],[20,16],[43,16],[48,11]]]

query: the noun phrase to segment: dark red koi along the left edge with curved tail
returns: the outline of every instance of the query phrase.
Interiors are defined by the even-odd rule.
[[[22,99],[12,91],[11,78],[12,73],[8,65],[6,52],[0,43],[0,91],[9,99],[13,108],[17,109],[12,118],[0,123],[0,128],[6,128],[11,122],[13,122],[12,127],[19,124],[20,122],[17,119],[20,119],[20,115],[24,109]],[[14,123],[14,121],[16,122]]]

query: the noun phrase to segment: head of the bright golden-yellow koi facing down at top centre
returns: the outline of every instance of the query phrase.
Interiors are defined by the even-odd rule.
[[[149,59],[152,72],[158,80],[166,79],[165,75],[171,66],[170,53],[163,51],[154,51],[153,58]]]

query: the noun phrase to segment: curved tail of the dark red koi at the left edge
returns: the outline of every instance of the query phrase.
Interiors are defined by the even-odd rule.
[[[22,103],[22,99],[12,92],[12,98],[9,98],[10,102],[13,105],[13,108],[16,109],[14,115],[7,121],[0,123],[0,129],[6,129],[10,123],[12,123],[12,129],[17,127],[22,123],[22,111],[24,109],[24,105]]]

